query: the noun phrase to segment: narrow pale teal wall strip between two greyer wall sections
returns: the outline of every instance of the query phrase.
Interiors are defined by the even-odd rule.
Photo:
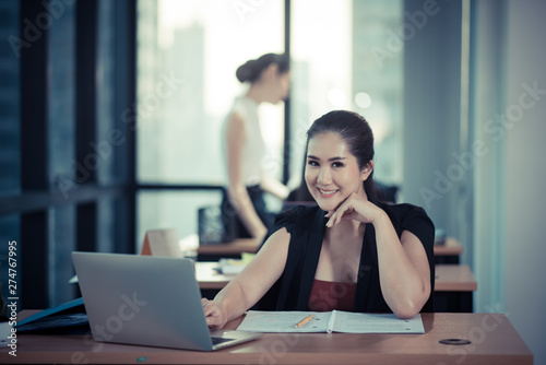
[[[474,143],[473,272],[478,282],[475,311],[505,310],[506,138],[496,116],[506,103],[506,16],[508,1],[474,1],[471,46],[471,111]],[[500,129],[501,130],[501,129]]]

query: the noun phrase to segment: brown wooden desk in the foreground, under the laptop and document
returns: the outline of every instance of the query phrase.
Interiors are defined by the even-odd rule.
[[[34,311],[24,310],[20,320]],[[236,329],[241,319],[227,323]],[[216,352],[98,343],[88,335],[19,335],[17,356],[1,363],[109,364],[533,364],[533,354],[505,315],[423,314],[425,334],[266,333]],[[443,339],[466,339],[444,345]]]

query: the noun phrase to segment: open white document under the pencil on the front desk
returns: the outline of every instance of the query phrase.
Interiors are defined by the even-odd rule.
[[[307,319],[309,316],[312,317]],[[297,326],[300,322],[305,325]],[[251,332],[425,333],[420,315],[411,319],[399,319],[393,314],[343,310],[249,310],[237,329]]]

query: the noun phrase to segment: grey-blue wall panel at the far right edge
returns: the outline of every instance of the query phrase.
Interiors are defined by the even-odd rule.
[[[507,12],[506,310],[546,364],[546,2],[509,1]],[[526,86],[525,86],[526,85]],[[530,92],[529,89],[538,89]],[[526,96],[522,96],[526,95]],[[534,103],[534,104],[533,104]],[[511,117],[510,117],[511,116]]]

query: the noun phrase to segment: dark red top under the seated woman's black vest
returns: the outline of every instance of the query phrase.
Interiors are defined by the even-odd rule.
[[[356,283],[314,279],[307,306],[309,310],[313,311],[330,311],[334,309],[353,311],[355,292]]]

